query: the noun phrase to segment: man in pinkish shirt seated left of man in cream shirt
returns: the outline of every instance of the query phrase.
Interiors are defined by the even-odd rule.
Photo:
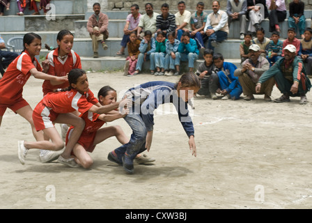
[[[121,40],[121,49],[116,53],[116,55],[125,55],[125,47],[130,41],[130,33],[137,31],[141,14],[139,13],[139,6],[134,4],[130,7],[131,13],[127,15],[125,22],[125,27],[123,28],[123,40]]]

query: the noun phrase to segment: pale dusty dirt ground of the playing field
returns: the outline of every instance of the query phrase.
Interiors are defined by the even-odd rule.
[[[144,82],[178,81],[122,72],[90,72],[88,79],[95,95],[110,85],[119,97]],[[33,108],[42,98],[41,84],[31,77],[24,86]],[[279,96],[274,86],[272,98]],[[120,145],[115,138],[96,146],[91,169],[42,164],[38,150],[20,164],[17,141],[34,139],[29,123],[8,109],[0,128],[0,208],[312,208],[311,93],[307,105],[299,105],[299,98],[279,104],[255,97],[194,98],[197,157],[175,109],[159,107],[152,148],[145,152],[156,161],[135,166],[132,175],[107,160]],[[107,125],[120,125],[130,137],[123,119]]]

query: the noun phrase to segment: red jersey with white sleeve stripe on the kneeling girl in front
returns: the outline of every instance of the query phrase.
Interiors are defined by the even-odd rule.
[[[42,98],[41,102],[59,114],[70,113],[75,110],[84,114],[94,104],[98,103],[98,99],[94,97],[91,90],[82,95],[77,90],[72,89],[70,91],[48,93]]]

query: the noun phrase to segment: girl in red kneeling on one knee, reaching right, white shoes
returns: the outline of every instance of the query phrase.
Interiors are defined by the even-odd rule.
[[[77,163],[70,153],[82,130],[84,130],[84,121],[71,113],[76,110],[80,114],[85,112],[103,114],[118,108],[119,102],[107,106],[98,106],[98,100],[94,98],[92,91],[88,88],[88,78],[84,70],[71,70],[68,74],[68,81],[70,86],[67,91],[48,93],[33,110],[33,122],[36,130],[42,130],[51,141],[19,141],[18,155],[22,164],[24,164],[27,151],[31,148],[61,150],[64,146],[63,139],[61,139],[59,132],[54,127],[54,123],[66,123],[74,125],[75,128],[68,144],[65,146],[65,151],[59,156],[58,161],[70,167],[77,167]],[[124,102],[127,101],[123,100]],[[74,117],[75,119],[79,118],[80,121],[75,124],[70,122],[70,119]],[[80,124],[81,122],[83,125]]]

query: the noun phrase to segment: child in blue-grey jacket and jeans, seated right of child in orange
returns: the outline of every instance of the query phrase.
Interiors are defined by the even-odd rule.
[[[140,54],[138,56],[137,66],[133,75],[139,75],[139,72],[142,70],[143,62],[150,59],[150,54],[155,52],[155,39],[152,38],[152,32],[147,30],[144,32],[143,40],[140,43],[139,47]],[[151,75],[154,75],[154,72],[150,72]]]

